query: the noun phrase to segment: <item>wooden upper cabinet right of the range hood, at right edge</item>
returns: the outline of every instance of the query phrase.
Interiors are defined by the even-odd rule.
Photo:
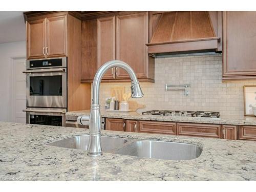
[[[256,12],[223,12],[223,79],[256,79]]]

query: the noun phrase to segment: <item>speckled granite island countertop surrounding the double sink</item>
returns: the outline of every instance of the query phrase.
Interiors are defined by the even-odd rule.
[[[1,180],[190,181],[256,180],[253,141],[192,138],[102,131],[102,135],[194,143],[203,147],[193,160],[157,160],[103,153],[92,158],[82,150],[46,145],[87,129],[0,122]]]

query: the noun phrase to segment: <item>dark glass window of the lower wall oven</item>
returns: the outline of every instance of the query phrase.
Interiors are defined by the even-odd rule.
[[[62,116],[29,115],[30,124],[62,126]]]

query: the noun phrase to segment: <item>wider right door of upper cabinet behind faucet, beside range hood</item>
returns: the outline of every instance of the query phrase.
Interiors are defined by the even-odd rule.
[[[148,13],[119,15],[116,17],[116,59],[130,65],[138,78],[147,77]],[[117,69],[117,79],[129,78]]]

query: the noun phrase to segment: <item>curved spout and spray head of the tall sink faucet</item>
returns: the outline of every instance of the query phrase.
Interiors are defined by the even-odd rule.
[[[132,86],[131,86],[132,98],[143,97],[143,93],[139,86],[139,81],[138,81],[133,69],[129,65],[127,65],[127,63],[125,63],[121,60],[111,60],[111,61],[106,62],[103,66],[101,66],[94,76],[93,87],[92,87],[92,104],[99,104],[100,81],[101,81],[103,75],[105,74],[105,72],[114,67],[122,68],[129,74],[131,81],[132,81]]]

